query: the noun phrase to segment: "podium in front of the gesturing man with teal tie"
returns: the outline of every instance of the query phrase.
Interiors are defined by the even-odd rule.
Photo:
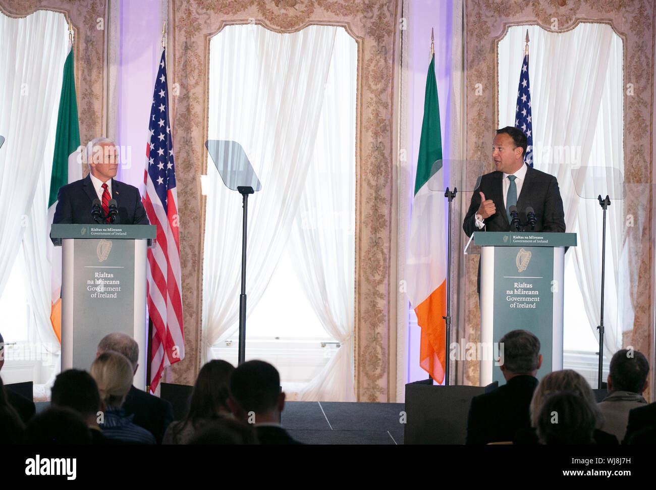
[[[473,241],[481,246],[481,386],[504,383],[498,342],[516,329],[540,340],[538,378],[563,369],[565,247],[577,245],[576,234],[475,232]]]

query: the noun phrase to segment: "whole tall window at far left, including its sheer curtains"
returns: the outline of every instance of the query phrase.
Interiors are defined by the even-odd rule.
[[[35,395],[58,370],[52,331],[47,207],[62,71],[64,15],[0,12],[0,331],[9,344],[6,383],[33,381]],[[39,386],[41,385],[41,386]]]

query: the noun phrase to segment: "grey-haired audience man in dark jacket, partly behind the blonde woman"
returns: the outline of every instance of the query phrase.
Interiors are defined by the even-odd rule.
[[[108,351],[118,352],[127,357],[132,364],[133,373],[136,373],[139,365],[139,346],[134,338],[125,333],[110,333],[100,340],[96,357]],[[164,432],[173,422],[171,402],[139,390],[134,385],[131,386],[127,398],[125,398],[123,411],[127,417],[133,415],[132,422],[134,424],[153,434],[157,439],[157,444],[161,444]]]

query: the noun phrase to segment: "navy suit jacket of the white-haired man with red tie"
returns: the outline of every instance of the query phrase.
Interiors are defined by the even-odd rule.
[[[52,222],[95,224],[91,217],[94,199],[98,199],[98,194],[89,175],[62,186]],[[119,211],[114,224],[150,224],[136,187],[112,179],[112,199],[116,199]]]

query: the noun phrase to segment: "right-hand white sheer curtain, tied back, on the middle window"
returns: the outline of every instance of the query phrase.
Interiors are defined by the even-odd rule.
[[[323,329],[340,342],[300,400],[356,401],[354,391],[356,42],[339,29],[314,157],[293,226],[298,280]]]

